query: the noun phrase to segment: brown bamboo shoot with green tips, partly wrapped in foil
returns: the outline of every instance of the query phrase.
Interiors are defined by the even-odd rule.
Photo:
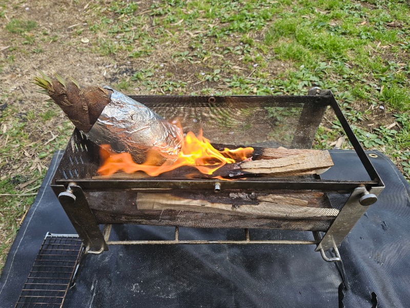
[[[57,74],[51,79],[39,71],[34,83],[63,109],[76,128],[96,144],[129,152],[136,163],[172,164],[183,142],[182,129],[169,123],[127,95],[109,87],[80,87]]]

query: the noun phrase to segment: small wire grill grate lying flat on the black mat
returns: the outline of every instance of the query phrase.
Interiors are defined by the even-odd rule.
[[[76,234],[47,233],[15,308],[63,306],[81,247]]]

